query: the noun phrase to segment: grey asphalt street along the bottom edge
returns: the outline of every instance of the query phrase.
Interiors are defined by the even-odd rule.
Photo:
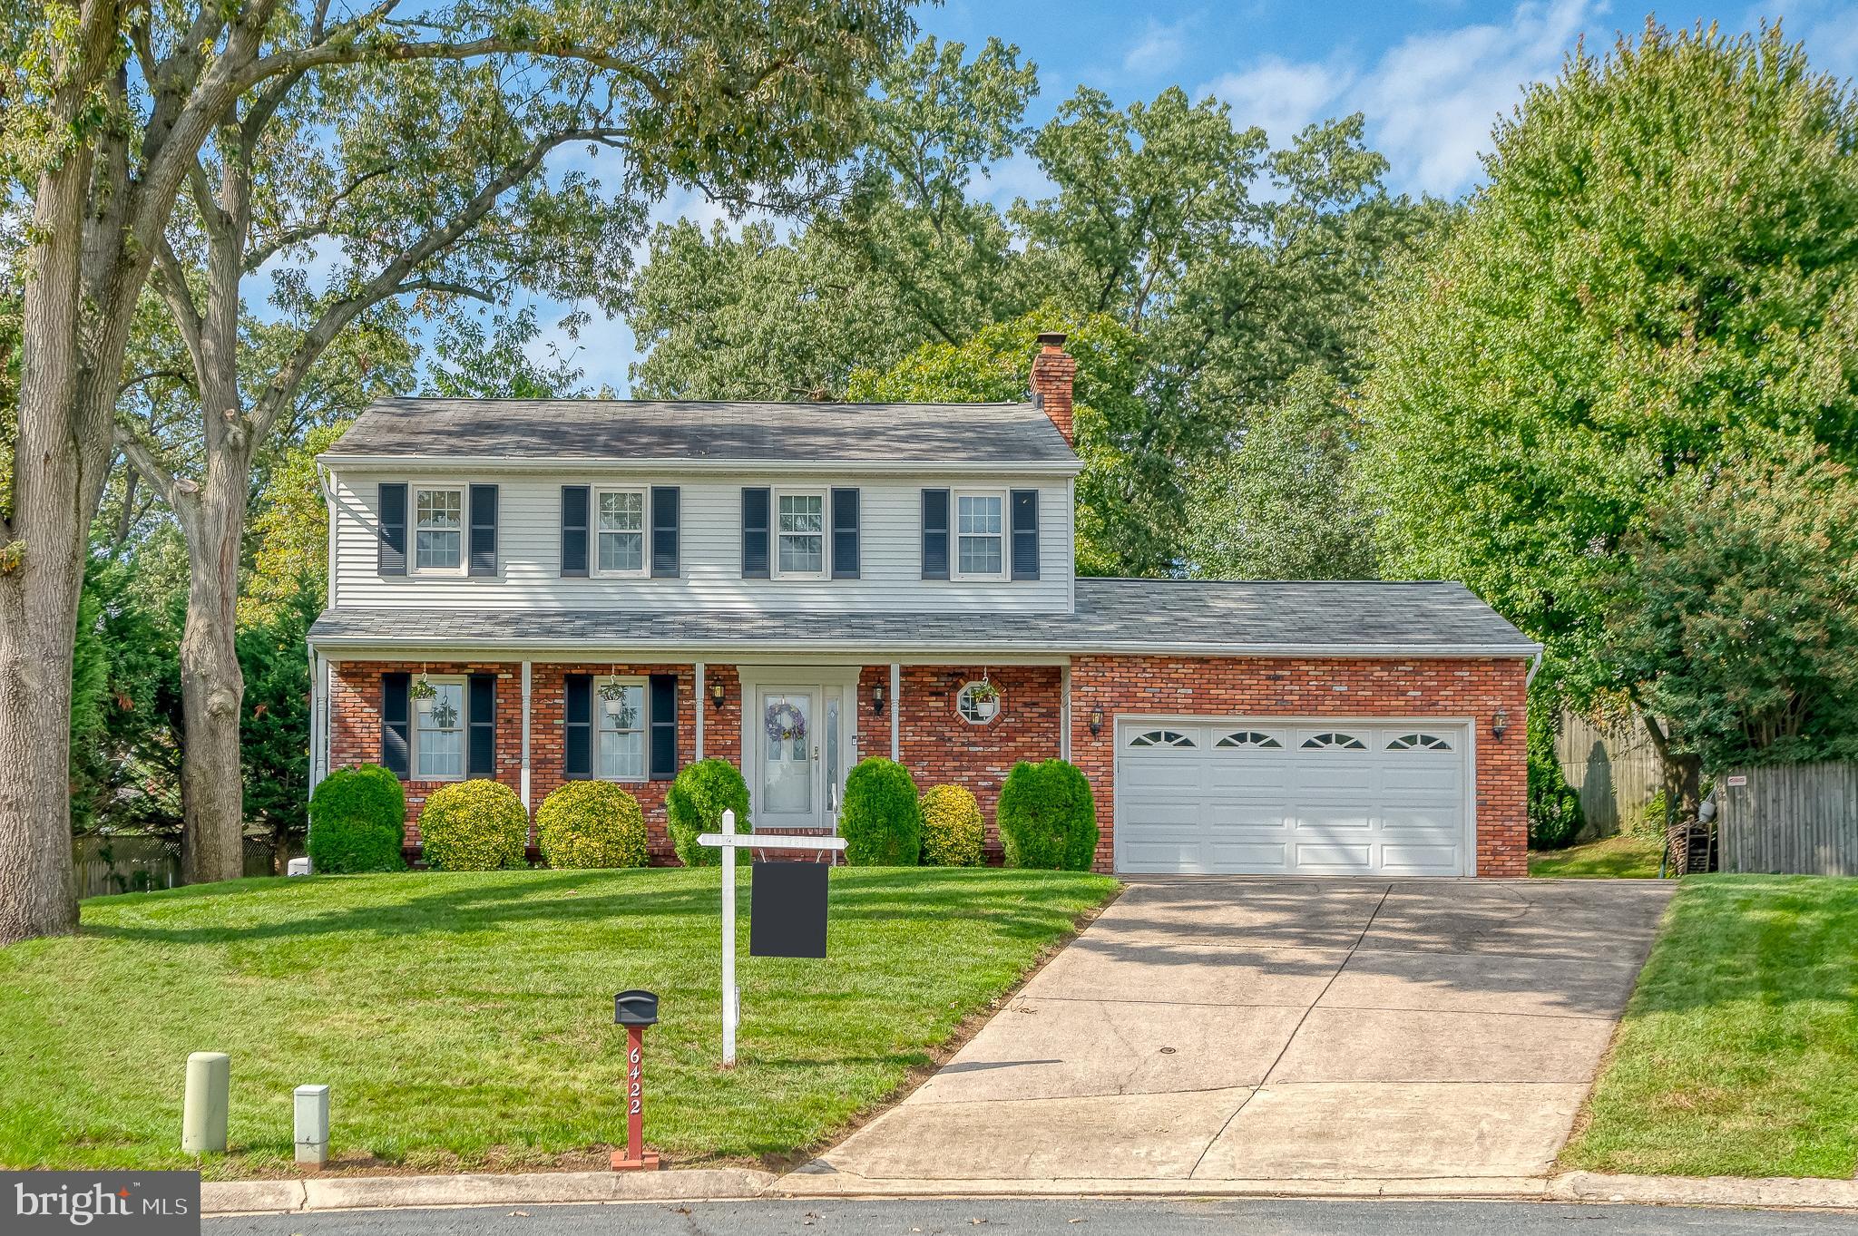
[[[206,1219],[206,1236],[1830,1236],[1854,1214],[1449,1201],[745,1201]]]

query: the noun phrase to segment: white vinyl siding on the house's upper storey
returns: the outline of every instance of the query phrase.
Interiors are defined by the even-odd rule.
[[[502,577],[381,575],[377,573],[375,486],[405,481],[409,516],[412,490],[455,488],[466,481],[496,483],[498,559]],[[598,475],[563,468],[548,473],[438,475],[372,468],[340,471],[334,494],[334,592],[333,605],[353,609],[645,609],[645,611],[782,611],[782,612],[961,612],[975,607],[1007,612],[1066,612],[1072,590],[1070,486],[1063,477],[1001,477],[1001,490],[1039,490],[1039,579],[923,579],[922,492],[959,490],[948,475],[860,479],[855,470],[821,475],[816,492],[834,484],[858,488],[860,577],[858,579],[743,579],[741,490],[769,486],[767,473],[704,473],[700,477],[654,473],[652,484],[682,488],[680,579],[561,577],[561,486],[609,488]],[[626,486],[611,486],[626,488]],[[814,486],[808,486],[810,490]],[[972,488],[972,486],[970,486]],[[949,503],[953,540],[953,501]],[[589,523],[598,525],[598,501],[589,496]],[[647,503],[647,512],[650,505]],[[769,523],[779,521],[779,507]],[[650,520],[647,520],[648,523]],[[409,529],[411,531],[411,529]],[[775,529],[769,529],[775,533]],[[589,527],[589,564],[598,549]],[[773,538],[771,538],[773,540]],[[648,538],[647,538],[648,542]],[[771,557],[775,546],[769,546]],[[953,560],[955,546],[949,546]],[[409,555],[411,557],[411,555]],[[647,544],[647,562],[650,544]],[[411,620],[409,620],[411,624]]]

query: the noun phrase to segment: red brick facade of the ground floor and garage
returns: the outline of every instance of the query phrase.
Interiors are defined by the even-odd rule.
[[[522,666],[511,663],[336,663],[331,666],[331,766],[381,759],[381,674],[496,674],[496,779],[522,785]],[[563,781],[567,674],[606,674],[608,666],[533,664],[530,677],[530,805],[539,807]],[[741,763],[741,679],[734,666],[704,668],[704,700],[695,698],[689,664],[617,664],[621,676],[678,676],[678,765],[695,759],[695,709],[704,711],[704,753]],[[1171,659],[1076,657],[1072,661],[1070,757],[1096,792],[1100,870],[1113,865],[1115,718],[1119,713],[1210,716],[1470,716],[1477,722],[1477,874],[1527,874],[1524,718],[1527,663],[1367,661],[1367,659]],[[988,666],[1001,709],[987,726],[955,713],[962,683],[979,666],[905,666],[901,700],[890,698],[890,666],[864,666],[855,707],[864,755],[890,755],[890,716],[899,713],[905,766],[922,789],[964,785],[981,804],[987,846],[998,854],[994,804],[1022,759],[1061,753],[1063,670]],[[723,705],[710,687],[723,685]],[[870,707],[883,685],[884,713]],[[1104,711],[1093,735],[1093,709]],[[1490,735],[1498,709],[1509,713],[1503,739]],[[407,783],[407,844],[418,844],[418,817],[437,781]],[[645,809],[654,861],[674,861],[665,835],[667,781],[628,785]]]

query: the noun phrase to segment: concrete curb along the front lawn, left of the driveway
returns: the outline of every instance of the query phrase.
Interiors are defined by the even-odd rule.
[[[463,1177],[320,1177],[208,1180],[203,1214],[295,1214],[407,1206],[546,1206],[563,1203],[741,1201],[779,1180],[771,1171],[531,1171]]]

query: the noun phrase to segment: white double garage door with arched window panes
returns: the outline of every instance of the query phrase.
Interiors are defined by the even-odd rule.
[[[1462,726],[1117,726],[1117,870],[1462,876]]]

